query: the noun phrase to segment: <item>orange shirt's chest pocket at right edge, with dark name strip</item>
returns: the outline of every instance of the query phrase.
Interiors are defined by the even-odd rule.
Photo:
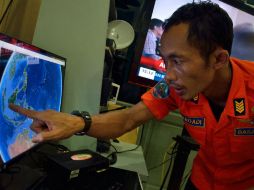
[[[229,131],[232,161],[254,160],[254,125],[248,120],[234,120]]]

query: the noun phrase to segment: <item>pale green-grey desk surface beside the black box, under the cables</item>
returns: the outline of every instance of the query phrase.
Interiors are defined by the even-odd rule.
[[[117,151],[125,151],[125,150],[131,150],[137,147],[136,144],[129,144],[124,142],[111,143]],[[115,151],[112,147],[110,148],[110,151]],[[148,171],[146,168],[146,162],[143,155],[142,147],[139,146],[136,150],[124,152],[124,153],[118,153],[117,154],[117,162],[113,164],[111,167],[121,168],[129,171],[137,172],[142,180],[144,178],[148,177]]]

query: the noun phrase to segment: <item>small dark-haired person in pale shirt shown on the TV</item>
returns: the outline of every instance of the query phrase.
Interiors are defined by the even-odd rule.
[[[163,33],[163,21],[153,18],[149,24],[149,30],[146,35],[146,40],[143,49],[143,56],[151,57],[153,59],[160,59],[157,55],[158,46],[160,44],[161,35]]]

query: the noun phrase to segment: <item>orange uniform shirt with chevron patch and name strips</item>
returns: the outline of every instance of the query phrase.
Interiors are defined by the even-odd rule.
[[[233,78],[220,120],[216,121],[201,93],[182,100],[155,98],[152,90],[142,100],[155,118],[179,109],[184,127],[201,145],[193,162],[191,180],[201,190],[244,190],[254,187],[254,63],[230,59]]]

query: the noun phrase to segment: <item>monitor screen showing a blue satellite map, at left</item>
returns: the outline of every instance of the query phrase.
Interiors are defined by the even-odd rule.
[[[0,34],[0,156],[6,165],[36,144],[33,120],[9,103],[32,110],[60,111],[65,59]]]

